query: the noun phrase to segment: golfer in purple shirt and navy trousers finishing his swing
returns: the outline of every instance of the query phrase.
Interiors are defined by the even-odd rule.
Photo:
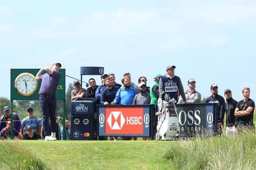
[[[42,81],[39,90],[39,104],[43,115],[43,133],[45,135],[44,140],[56,140],[56,88],[60,81],[61,64],[56,61],[52,64],[52,67],[44,66],[36,74],[36,80]],[[42,75],[43,71],[46,71]],[[52,129],[52,134],[49,134],[49,117]]]

